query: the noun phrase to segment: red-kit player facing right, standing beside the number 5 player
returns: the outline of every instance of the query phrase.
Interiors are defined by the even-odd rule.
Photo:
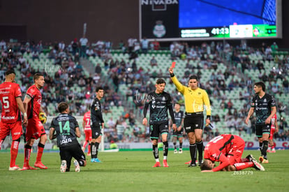
[[[41,163],[41,157],[45,142],[47,140],[47,135],[43,124],[39,119],[39,112],[44,112],[41,108],[42,96],[40,92],[40,89],[44,85],[44,76],[40,73],[36,73],[33,76],[33,79],[34,85],[29,87],[23,101],[24,109],[27,111],[28,124],[26,131],[27,143],[24,146],[24,165],[22,170],[36,170],[36,168],[47,169],[47,167]],[[40,138],[40,140],[38,142],[36,162],[34,163],[35,168],[32,168],[29,165],[29,158],[32,145],[34,145],[34,141],[38,138]]]

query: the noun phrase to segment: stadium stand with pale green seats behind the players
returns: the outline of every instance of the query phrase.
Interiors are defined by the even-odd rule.
[[[202,43],[200,47],[175,42],[170,50],[128,54],[124,49],[112,50],[104,47],[105,43],[96,43],[88,49],[94,54],[83,59],[72,52],[71,45],[60,50],[58,43],[47,46],[41,42],[37,45],[7,43],[1,48],[0,78],[3,81],[3,73],[13,68],[24,94],[33,82],[33,74],[44,73],[43,108],[48,116],[57,115],[57,103],[68,101],[73,115],[81,117],[95,96],[94,89],[101,85],[105,89],[105,142],[118,141],[117,128],[108,128],[106,124],[110,117],[116,124],[121,121],[125,126],[124,137],[119,142],[146,142],[149,135],[140,121],[142,107],[146,94],[154,89],[156,78],[166,80],[165,91],[172,95],[174,102],[184,102],[168,75],[171,62],[177,61],[175,74],[179,80],[186,84],[189,75],[197,74],[200,87],[207,90],[212,102],[212,126],[205,128],[204,140],[218,133],[233,133],[244,140],[255,140],[251,126],[244,124],[244,117],[253,94],[252,84],[260,80],[265,81],[267,92],[278,102],[277,115],[283,129],[275,137],[287,140],[288,51],[269,52],[252,47],[244,50],[227,44],[223,49],[219,42],[216,45]],[[152,57],[157,65],[151,66]]]

